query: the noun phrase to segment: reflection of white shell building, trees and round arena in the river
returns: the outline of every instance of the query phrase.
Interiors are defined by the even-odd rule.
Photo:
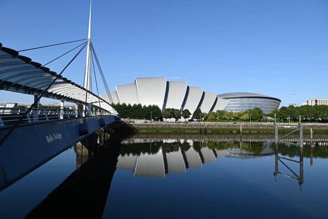
[[[237,147],[237,145],[239,147]],[[165,174],[202,168],[220,156],[256,158],[273,155],[272,142],[216,142],[134,139],[121,145],[117,168],[133,176],[165,178]]]

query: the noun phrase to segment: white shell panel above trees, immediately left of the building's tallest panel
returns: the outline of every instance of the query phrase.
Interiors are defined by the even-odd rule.
[[[120,104],[126,103],[133,105],[139,103],[138,92],[135,83],[118,85],[116,86],[116,92]]]

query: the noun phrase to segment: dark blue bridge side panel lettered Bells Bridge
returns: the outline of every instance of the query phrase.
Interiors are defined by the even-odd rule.
[[[88,133],[94,133],[102,125],[119,120],[114,115],[87,117]],[[80,135],[79,125],[84,118],[35,123],[17,127],[0,146],[0,191],[52,157],[87,136]],[[0,138],[8,128],[0,129]]]

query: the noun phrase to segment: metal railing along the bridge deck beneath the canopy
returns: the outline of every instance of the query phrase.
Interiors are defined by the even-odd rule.
[[[0,108],[0,127],[10,126],[17,122],[27,111],[27,108]],[[71,118],[81,118],[90,116],[110,115],[108,112],[99,110],[72,110],[72,109],[46,109],[34,108],[23,117],[23,123],[34,123],[53,120],[67,120]]]

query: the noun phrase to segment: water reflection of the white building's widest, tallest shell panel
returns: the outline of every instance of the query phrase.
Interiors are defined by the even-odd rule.
[[[133,175],[165,178],[162,149],[159,149],[156,154],[140,154],[137,158]]]

